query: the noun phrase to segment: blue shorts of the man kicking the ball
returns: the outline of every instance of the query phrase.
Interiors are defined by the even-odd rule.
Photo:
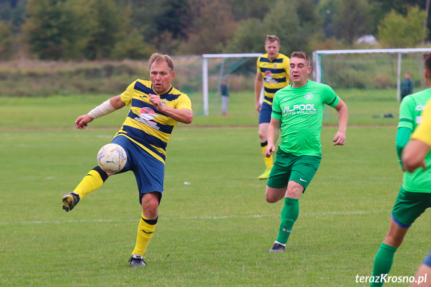
[[[140,146],[119,135],[112,140],[124,148],[127,154],[125,167],[117,172],[133,171],[138,184],[139,203],[142,204],[142,195],[153,191],[159,192],[159,203],[163,194],[163,180],[165,176],[165,164],[143,150]]]

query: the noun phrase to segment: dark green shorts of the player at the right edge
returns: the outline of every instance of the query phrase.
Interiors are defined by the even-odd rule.
[[[398,226],[408,228],[429,207],[431,207],[431,193],[410,192],[401,188],[392,209],[392,219]]]

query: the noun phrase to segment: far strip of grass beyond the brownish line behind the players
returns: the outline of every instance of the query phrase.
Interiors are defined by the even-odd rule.
[[[336,90],[349,109],[350,125],[396,125],[400,103],[393,90]],[[112,95],[52,96],[46,98],[0,97],[0,127],[70,127],[78,115],[85,114]],[[202,115],[202,96],[189,95],[195,112],[189,126],[257,126],[258,112],[254,106],[254,93],[231,93],[229,116],[217,111],[214,97],[209,101],[209,115]],[[127,108],[116,111],[90,123],[92,127],[119,127],[128,112]],[[375,118],[391,113],[394,118]],[[324,125],[337,125],[336,111],[326,106]],[[181,126],[182,124],[179,124]]]

